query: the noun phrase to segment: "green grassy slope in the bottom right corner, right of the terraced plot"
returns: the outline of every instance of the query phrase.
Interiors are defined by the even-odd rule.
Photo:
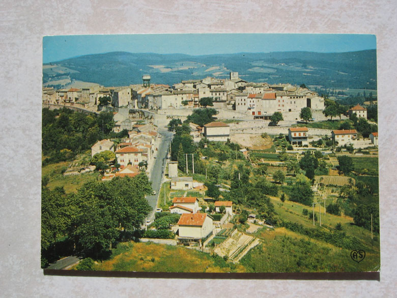
[[[240,263],[247,272],[356,272],[378,270],[379,252],[366,252],[365,259],[356,263],[350,251],[310,239],[285,228],[259,230],[262,239]]]

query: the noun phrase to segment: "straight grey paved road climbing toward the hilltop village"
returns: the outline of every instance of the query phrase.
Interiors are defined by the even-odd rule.
[[[153,208],[152,212],[148,215],[148,220],[154,220],[154,212],[157,207],[158,194],[160,193],[161,180],[164,176],[166,157],[168,153],[169,143],[171,143],[171,138],[173,133],[165,129],[159,129],[159,133],[162,135],[161,143],[158,146],[156,161],[154,162],[152,173],[150,176],[150,181],[152,182],[152,188],[156,191],[155,196],[147,196],[146,199],[149,205]]]

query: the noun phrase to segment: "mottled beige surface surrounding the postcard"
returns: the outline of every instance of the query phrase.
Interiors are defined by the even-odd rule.
[[[394,1],[0,2],[0,296],[391,297],[396,295]],[[42,36],[110,33],[376,34],[381,281],[171,280],[44,276],[40,269]]]

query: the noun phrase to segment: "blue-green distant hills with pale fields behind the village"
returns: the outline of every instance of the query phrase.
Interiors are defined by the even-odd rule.
[[[229,77],[230,71],[249,82],[291,83],[326,88],[377,89],[376,50],[344,53],[270,52],[189,56],[183,54],[109,52],[43,64],[43,84],[81,80],[104,86],[151,82],[173,85],[206,76]]]

